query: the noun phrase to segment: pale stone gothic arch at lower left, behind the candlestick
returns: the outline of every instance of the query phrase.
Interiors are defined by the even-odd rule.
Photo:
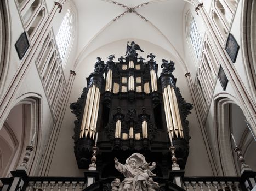
[[[36,132],[36,133],[35,133]],[[28,163],[27,173],[35,173],[36,164],[41,142],[41,97],[35,93],[27,93],[20,96],[13,108],[9,111],[3,127],[0,130],[0,141],[9,145],[9,150],[2,149],[2,155],[7,153],[8,162],[6,168],[1,172],[1,176],[9,176],[7,172],[15,170],[25,156],[26,146],[32,145],[34,150],[31,152]],[[33,141],[32,141],[33,140]],[[0,147],[1,150],[1,147]]]

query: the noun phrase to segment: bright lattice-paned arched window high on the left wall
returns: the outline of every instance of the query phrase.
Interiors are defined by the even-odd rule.
[[[73,36],[73,14],[70,9],[67,10],[67,13],[61,23],[60,29],[56,35],[56,43],[60,53],[60,60],[63,64],[66,57],[67,50],[69,48],[72,36]]]

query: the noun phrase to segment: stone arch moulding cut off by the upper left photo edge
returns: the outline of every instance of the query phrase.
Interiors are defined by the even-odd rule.
[[[6,79],[10,54],[10,20],[8,0],[0,2],[0,92]]]

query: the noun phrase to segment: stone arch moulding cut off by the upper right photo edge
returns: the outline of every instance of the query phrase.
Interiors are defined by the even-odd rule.
[[[256,2],[244,0],[242,8],[242,58],[250,92],[256,99]]]

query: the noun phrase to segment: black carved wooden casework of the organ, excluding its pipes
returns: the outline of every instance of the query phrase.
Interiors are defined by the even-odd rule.
[[[98,125],[96,127],[99,132],[97,146],[99,148],[97,154],[97,170],[101,173],[101,177],[116,176],[117,172],[109,170],[115,169],[113,158],[117,157],[123,162],[130,154],[140,152],[149,161],[155,161],[158,166],[154,173],[164,178],[169,177],[170,168],[172,165],[171,156],[169,152],[170,141],[167,134],[166,118],[164,116],[164,105],[162,99],[162,88],[170,85],[174,87],[181,121],[183,123],[184,138],[174,138],[173,144],[176,147],[176,157],[181,169],[184,169],[187,156],[189,154],[189,127],[186,120],[187,115],[192,109],[192,104],[185,102],[180,94],[179,88],[175,86],[176,79],[172,72],[174,62],[163,60],[163,72],[159,80],[157,80],[158,91],[152,92],[150,70],[155,70],[157,74],[158,64],[153,60],[155,55],[152,53],[148,56],[149,62],[144,62],[143,57],[137,58],[136,50],[141,51],[138,46],[133,43],[128,46],[127,57],[118,58],[117,63],[113,62],[113,55],[109,57],[104,68],[95,69],[88,77],[88,86],[83,89],[81,97],[76,103],[72,103],[70,108],[76,115],[74,129],[75,154],[78,166],[81,169],[88,168],[88,162],[92,157],[90,149],[93,145],[93,140],[80,138],[79,132],[82,121],[83,107],[86,103],[86,95],[88,88],[95,84],[101,89],[100,107],[98,114]],[[129,62],[133,61],[134,68],[129,68]],[[98,62],[103,63],[101,58]],[[102,64],[103,65],[103,64]],[[126,65],[127,67],[123,67]],[[139,67],[136,68],[136,65]],[[112,70],[112,83],[119,84],[118,93],[105,92],[105,76],[107,71]],[[128,78],[130,75],[134,76],[135,89],[128,91]],[[127,83],[122,83],[122,77],[126,77]],[[141,81],[136,82],[136,77],[140,77]],[[146,93],[144,84],[149,83],[150,93]],[[122,86],[126,87],[126,91],[122,91]],[[141,92],[136,90],[137,86],[141,86]],[[113,87],[113,84],[112,84]],[[113,88],[112,88],[113,89]],[[116,121],[121,120],[121,133],[127,133],[128,139],[115,138]],[[142,138],[142,121],[147,122],[147,138]],[[129,129],[133,127],[134,138],[129,138]],[[135,139],[135,134],[140,133],[141,138]]]

